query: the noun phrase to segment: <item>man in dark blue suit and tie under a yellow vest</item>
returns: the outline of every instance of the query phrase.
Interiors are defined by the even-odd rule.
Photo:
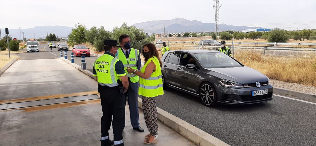
[[[142,63],[140,59],[139,50],[131,48],[130,36],[121,35],[119,37],[119,43],[122,48],[119,48],[119,55],[116,56],[117,59],[121,60],[124,65],[125,72],[128,77],[130,88],[123,95],[125,99],[128,101],[128,106],[130,107],[130,117],[131,117],[131,125],[133,129],[144,132],[143,128],[139,126],[138,122],[138,80],[139,77],[132,73],[127,73],[127,67],[131,67],[133,69],[139,70]]]

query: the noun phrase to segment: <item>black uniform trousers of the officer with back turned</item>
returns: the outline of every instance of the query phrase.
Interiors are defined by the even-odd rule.
[[[101,117],[101,136],[109,136],[113,116],[114,141],[123,139],[123,129],[125,127],[125,103],[123,93],[119,91],[119,86],[106,87],[98,85],[100,92],[103,115]]]

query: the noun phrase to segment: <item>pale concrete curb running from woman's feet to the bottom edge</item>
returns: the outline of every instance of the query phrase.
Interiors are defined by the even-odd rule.
[[[143,109],[141,98],[138,98],[138,107]],[[168,113],[167,111],[162,110],[159,107],[157,107],[157,112],[158,120],[198,146],[229,146],[229,144]]]

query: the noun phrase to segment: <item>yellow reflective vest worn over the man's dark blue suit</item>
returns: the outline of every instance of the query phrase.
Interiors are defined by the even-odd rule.
[[[136,83],[136,82],[138,82],[139,77],[133,73],[127,73],[126,69],[127,69],[127,67],[131,67],[133,69],[138,70],[136,64],[137,64],[137,60],[138,60],[138,56],[139,56],[139,51],[134,49],[134,48],[131,48],[131,52],[130,52],[129,57],[127,59],[122,49],[123,48],[119,48],[119,50],[118,50],[119,55],[116,56],[116,58],[123,62],[125,73],[130,78],[131,82]]]

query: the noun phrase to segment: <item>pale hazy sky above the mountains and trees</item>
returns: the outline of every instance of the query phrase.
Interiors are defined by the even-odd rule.
[[[316,29],[316,0],[220,0],[220,23],[228,25]],[[185,18],[215,22],[213,0],[0,0],[1,29],[43,25],[107,30],[123,22],[132,25],[152,20]],[[273,24],[271,24],[273,23]]]

